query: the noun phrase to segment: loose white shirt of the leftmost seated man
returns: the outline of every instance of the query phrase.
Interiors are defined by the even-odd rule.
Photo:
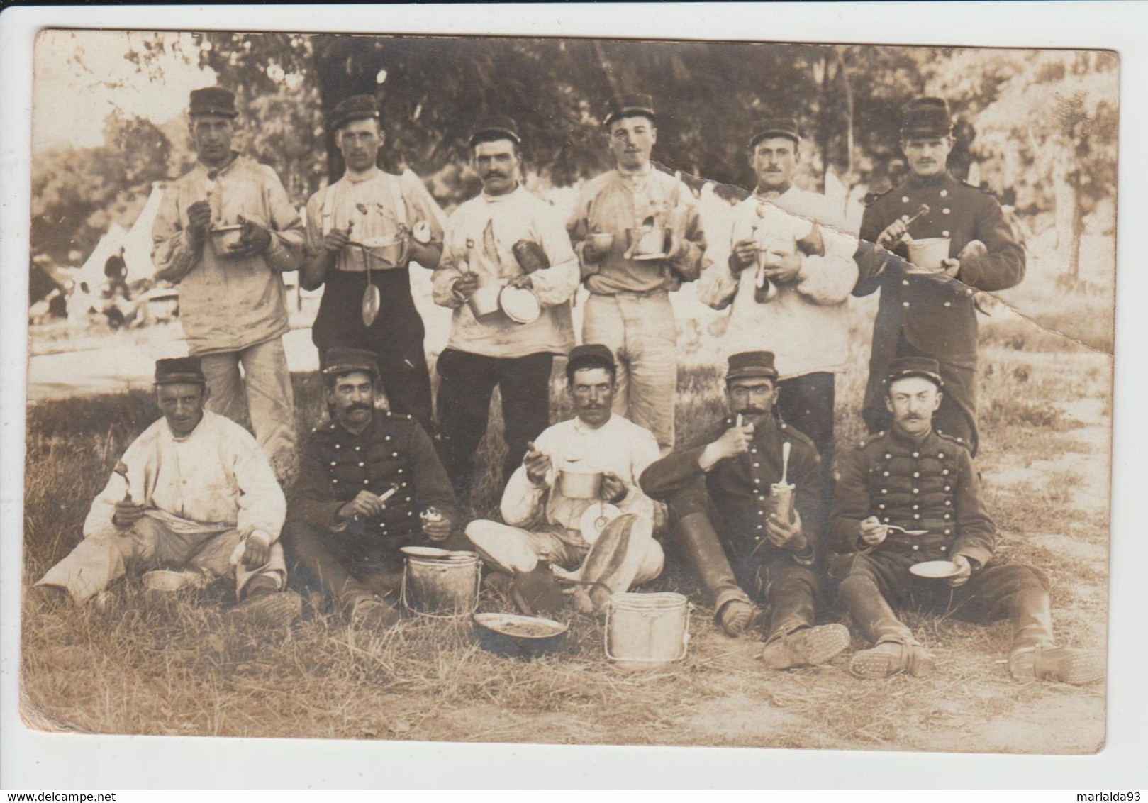
[[[245,536],[262,530],[271,540],[279,538],[287,512],[282,489],[251,434],[224,416],[204,410],[185,438],[160,418],[121,462],[132,501],[165,514],[174,527],[231,526]],[[127,489],[113,473],[84,520],[85,538],[117,532],[111,517]]]

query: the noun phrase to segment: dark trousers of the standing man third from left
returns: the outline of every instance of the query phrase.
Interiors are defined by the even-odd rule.
[[[554,355],[487,357],[448,348],[439,355],[442,463],[459,500],[474,487],[474,453],[487,431],[490,395],[502,391],[506,461],[502,480],[522,462],[526,445],[550,424],[550,369]]]

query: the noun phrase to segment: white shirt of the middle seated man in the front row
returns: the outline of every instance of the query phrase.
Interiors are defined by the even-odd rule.
[[[525,528],[557,525],[565,527],[567,540],[583,546],[582,514],[600,502],[563,495],[557,484],[558,472],[566,465],[576,465],[579,471],[618,474],[629,489],[626,499],[618,503],[621,511],[653,518],[653,501],[638,487],[642,472],[661,456],[658,441],[649,430],[616,414],[597,430],[581,418],[572,418],[548,427],[534,445],[550,457],[550,471],[542,485],[530,481],[525,465],[514,471],[502,499],[506,524]]]

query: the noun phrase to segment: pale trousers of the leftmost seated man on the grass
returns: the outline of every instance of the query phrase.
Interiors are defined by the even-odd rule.
[[[129,571],[161,567],[195,569],[216,577],[234,572],[236,599],[256,577],[270,578],[276,588],[286,585],[287,566],[278,542],[271,545],[267,562],[250,570],[242,561],[231,565],[239,542],[234,527],[174,524],[145,515],[127,530],[85,538],[36,585],[65,588],[77,604],[87,602]]]

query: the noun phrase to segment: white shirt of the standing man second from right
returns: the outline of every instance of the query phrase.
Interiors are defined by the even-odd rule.
[[[796,241],[820,224],[823,256],[802,256],[797,278],[759,302],[757,270],[729,269],[734,244],[753,239],[759,246],[793,253]],[[782,379],[817,371],[841,371],[848,360],[848,299],[858,280],[853,261],[856,237],[844,231],[841,215],[824,195],[790,187],[771,199],[757,193],[734,208],[731,231],[712,234],[707,265],[698,280],[698,299],[714,309],[732,304],[727,355],[769,350]]]

